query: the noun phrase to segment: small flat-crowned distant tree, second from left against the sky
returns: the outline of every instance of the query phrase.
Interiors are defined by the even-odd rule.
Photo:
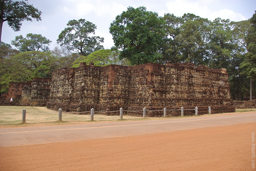
[[[43,37],[41,34],[27,34],[26,38],[22,35],[16,36],[15,40],[12,40],[14,45],[21,52],[26,51],[50,51],[49,46],[52,41]]]

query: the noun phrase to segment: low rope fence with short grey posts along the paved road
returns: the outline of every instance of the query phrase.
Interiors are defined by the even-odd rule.
[[[147,110],[146,108],[143,108],[143,110],[123,110],[123,108],[120,108],[118,111],[94,111],[92,108],[90,111],[83,111],[83,112],[63,112],[63,113],[86,113],[90,112],[91,117],[90,120],[93,121],[93,115],[94,113],[111,113],[111,112],[120,112],[120,120],[123,120],[123,111],[127,112],[140,112],[143,111],[143,118],[146,118],[146,112],[153,112],[153,111],[164,111],[164,117],[166,117],[166,112],[167,111],[178,111],[181,110],[181,116],[183,116],[184,110],[195,110],[195,115],[198,115],[198,107],[195,107],[195,109],[184,109],[181,107],[181,109],[166,109],[164,108],[163,110]],[[22,110],[22,123],[26,123],[26,113],[36,113],[36,112],[26,112],[26,109]],[[57,113],[57,112],[49,112],[49,113]],[[59,109],[59,121],[62,121],[62,109]],[[13,114],[0,114],[0,115],[17,115],[20,113],[13,113]],[[37,113],[37,114],[48,114],[48,113]],[[211,106],[209,106],[209,114],[211,114]]]

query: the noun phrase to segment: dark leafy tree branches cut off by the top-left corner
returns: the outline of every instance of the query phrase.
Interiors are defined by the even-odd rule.
[[[7,21],[14,31],[19,31],[22,25],[21,22],[24,20],[32,21],[32,19],[36,19],[36,21],[41,21],[42,12],[25,1],[0,0],[0,46],[3,22]]]

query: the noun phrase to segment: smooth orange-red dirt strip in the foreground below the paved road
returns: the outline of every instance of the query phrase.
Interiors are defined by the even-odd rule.
[[[253,132],[256,132],[255,122],[129,137],[0,147],[0,170],[256,170],[251,169]]]

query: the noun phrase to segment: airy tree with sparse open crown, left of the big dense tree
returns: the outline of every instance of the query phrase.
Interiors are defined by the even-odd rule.
[[[92,22],[85,19],[70,20],[67,26],[69,27],[65,28],[59,34],[59,39],[57,39],[57,43],[61,46],[67,46],[69,50],[75,50],[80,55],[85,56],[94,51],[104,49],[100,45],[100,43],[104,42],[104,38],[90,36],[95,34],[95,29],[97,28]]]

